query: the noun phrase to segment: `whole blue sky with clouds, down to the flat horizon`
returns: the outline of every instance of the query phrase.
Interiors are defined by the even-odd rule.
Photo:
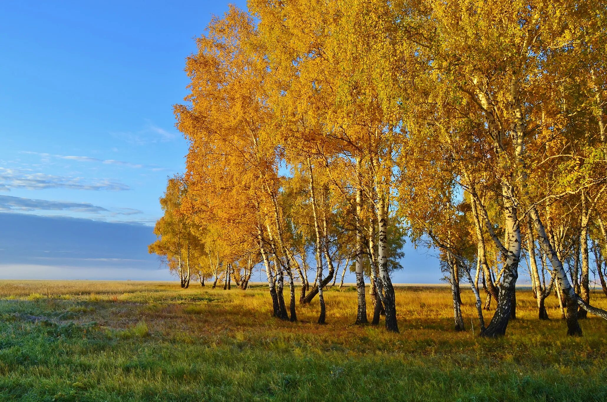
[[[194,38],[227,9],[2,2],[0,278],[170,278],[147,245],[187,152],[172,105],[187,93]],[[435,258],[405,252],[395,282],[438,281]]]

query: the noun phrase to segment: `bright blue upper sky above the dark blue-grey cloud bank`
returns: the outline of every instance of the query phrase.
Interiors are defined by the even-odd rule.
[[[152,223],[187,151],[172,113],[184,59],[227,8],[3,1],[0,210]]]

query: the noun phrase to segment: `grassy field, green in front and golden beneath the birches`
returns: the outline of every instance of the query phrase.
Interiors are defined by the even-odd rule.
[[[519,290],[497,340],[473,335],[464,288],[466,332],[452,329],[444,287],[397,289],[396,334],[352,325],[353,288],[325,299],[319,326],[317,301],[297,323],[270,317],[261,286],[0,281],[0,400],[607,401],[607,321],[566,337],[553,296],[539,321]]]

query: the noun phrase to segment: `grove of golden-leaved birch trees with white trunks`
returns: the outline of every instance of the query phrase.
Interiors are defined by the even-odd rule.
[[[186,173],[150,246],[181,286],[246,289],[260,267],[276,317],[297,319],[299,293],[324,323],[323,290],[351,269],[353,320],[385,315],[398,332],[390,272],[406,233],[440,250],[457,329],[464,281],[481,334],[504,335],[521,269],[539,318],[552,293],[569,335],[587,312],[607,318],[590,292],[594,273],[607,294],[601,2],[248,7],[213,18],[186,59]]]

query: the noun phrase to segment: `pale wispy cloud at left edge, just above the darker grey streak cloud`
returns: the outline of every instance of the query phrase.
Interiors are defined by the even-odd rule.
[[[124,191],[131,187],[109,179],[84,179],[72,176],[47,175],[27,169],[6,169],[0,167],[0,190],[10,189],[72,189]]]

